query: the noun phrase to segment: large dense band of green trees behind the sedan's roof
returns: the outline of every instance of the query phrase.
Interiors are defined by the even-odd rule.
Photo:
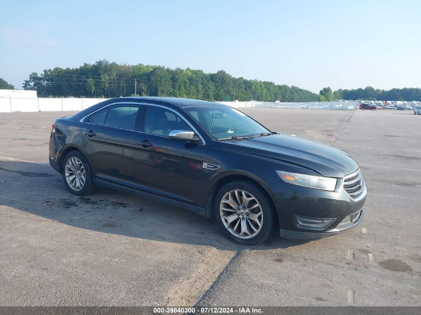
[[[136,81],[135,81],[136,80]],[[136,93],[135,93],[136,86]],[[119,65],[100,60],[79,68],[45,69],[31,73],[23,89],[36,90],[38,96],[166,96],[209,101],[226,98],[238,101],[307,102],[317,94],[294,86],[235,78],[223,70],[170,69],[150,65]]]

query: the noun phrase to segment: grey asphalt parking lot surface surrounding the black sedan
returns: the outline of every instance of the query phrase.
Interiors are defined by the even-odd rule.
[[[69,113],[0,113],[0,305],[421,306],[421,117],[240,109],[348,152],[368,188],[363,222],[245,247],[187,210],[76,197],[48,165],[51,123]]]

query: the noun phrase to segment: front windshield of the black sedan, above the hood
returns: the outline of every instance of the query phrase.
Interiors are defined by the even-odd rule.
[[[260,123],[231,107],[197,106],[185,110],[216,139],[252,137],[270,133]]]

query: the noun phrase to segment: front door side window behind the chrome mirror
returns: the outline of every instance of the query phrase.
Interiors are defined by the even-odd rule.
[[[189,124],[172,110],[147,106],[143,132],[167,137],[172,130],[193,131]]]

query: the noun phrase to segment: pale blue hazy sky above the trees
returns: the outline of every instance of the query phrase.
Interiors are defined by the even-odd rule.
[[[421,1],[0,0],[0,78],[100,59],[318,93],[421,88]]]

